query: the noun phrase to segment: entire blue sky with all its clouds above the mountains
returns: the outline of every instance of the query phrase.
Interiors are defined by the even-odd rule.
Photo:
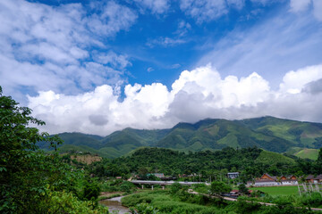
[[[50,133],[322,122],[321,2],[2,1],[0,86]]]

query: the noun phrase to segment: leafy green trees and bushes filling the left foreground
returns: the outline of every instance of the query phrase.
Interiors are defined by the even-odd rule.
[[[97,205],[99,186],[57,152],[38,150],[38,141],[54,149],[61,140],[39,133],[45,122],[30,116],[0,86],[0,212],[107,213]]]

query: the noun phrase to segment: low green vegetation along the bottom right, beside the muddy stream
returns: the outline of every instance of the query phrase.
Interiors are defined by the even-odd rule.
[[[237,202],[228,202],[218,196],[227,186],[213,183],[209,193],[217,195],[191,194],[187,187],[171,185],[167,191],[135,193],[123,198],[123,205],[131,208],[132,213],[313,213],[303,207],[317,207],[322,202],[320,194],[311,196],[265,196],[263,198],[241,197]],[[198,186],[200,188],[200,186]],[[318,196],[319,195],[319,196]],[[265,206],[258,202],[270,201],[275,206]],[[314,212],[319,213],[319,212]]]

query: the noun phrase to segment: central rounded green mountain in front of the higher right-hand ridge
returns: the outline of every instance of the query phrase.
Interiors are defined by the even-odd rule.
[[[207,119],[193,125],[179,124],[157,143],[157,147],[184,151],[218,150],[227,146],[233,148],[258,146],[272,152],[285,152],[295,144],[226,119]]]

